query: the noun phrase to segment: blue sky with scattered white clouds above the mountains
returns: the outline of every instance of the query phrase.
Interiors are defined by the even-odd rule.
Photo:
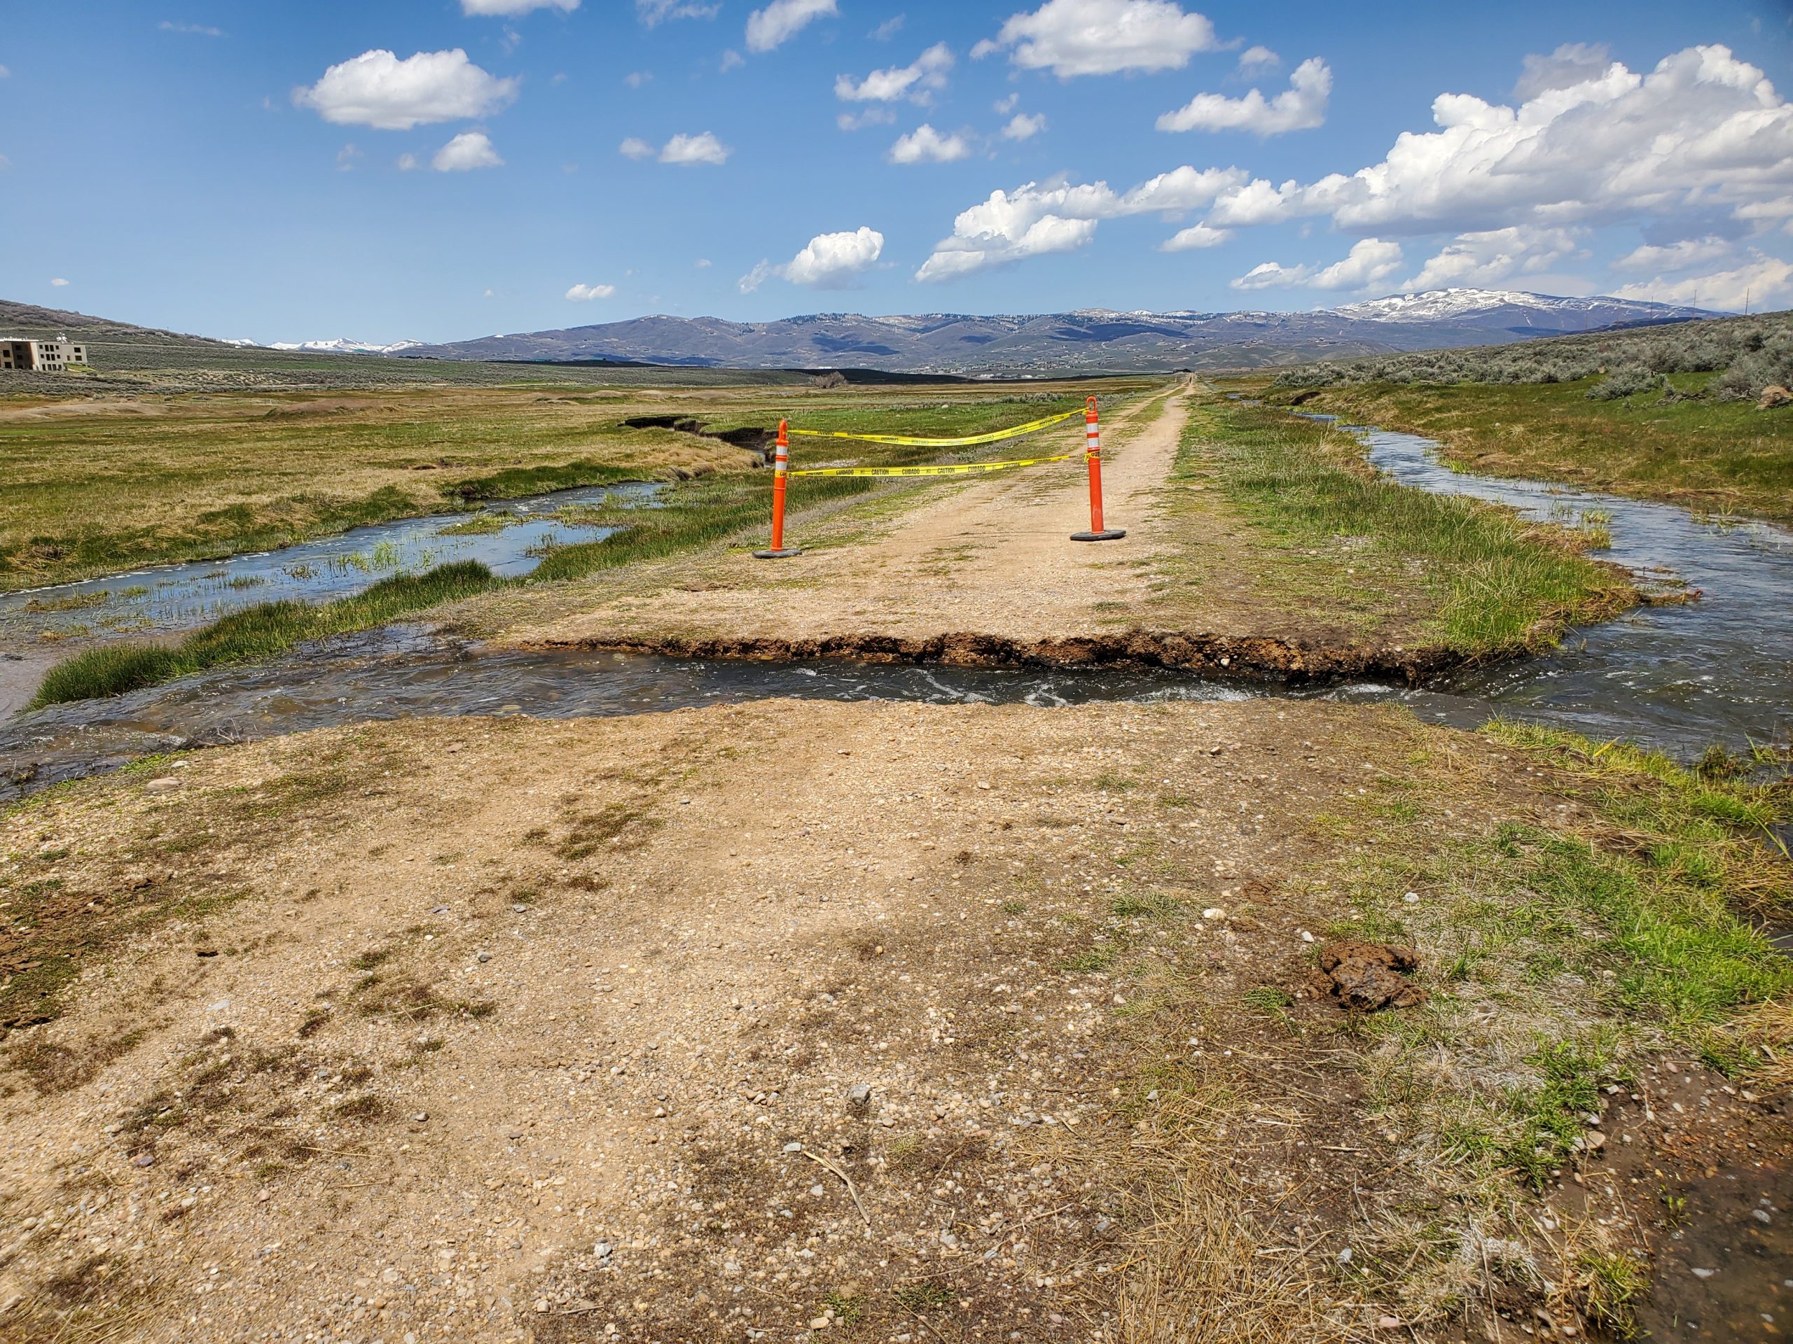
[[[7,11],[0,296],[215,337],[1793,303],[1784,0]]]

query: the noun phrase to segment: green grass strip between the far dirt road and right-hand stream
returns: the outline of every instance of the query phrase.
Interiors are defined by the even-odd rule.
[[[1216,480],[1271,543],[1260,582],[1341,611],[1415,607],[1424,636],[1452,649],[1546,645],[1633,600],[1612,572],[1513,514],[1377,477],[1354,437],[1280,410],[1198,407],[1178,475]]]

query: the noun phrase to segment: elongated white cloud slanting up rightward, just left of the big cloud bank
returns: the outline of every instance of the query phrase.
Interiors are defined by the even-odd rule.
[[[1026,183],[1013,192],[995,190],[990,199],[959,211],[952,220],[952,237],[934,244],[914,278],[956,280],[992,265],[1076,251],[1096,237],[1099,220],[1200,210],[1243,181],[1244,174],[1237,168],[1196,170],[1183,165],[1146,179],[1124,195],[1108,183],[1063,179]]]

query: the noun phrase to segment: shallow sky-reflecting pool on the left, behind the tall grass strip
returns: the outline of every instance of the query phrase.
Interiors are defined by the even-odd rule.
[[[662,489],[653,482],[563,489],[495,500],[464,513],[373,523],[222,561],[151,566],[0,593],[0,650],[18,652],[34,643],[77,638],[172,634],[258,602],[351,597],[393,573],[414,573],[450,561],[481,561],[498,575],[527,573],[541,563],[545,548],[599,541],[617,530],[592,527],[576,514],[563,516],[563,511],[651,505]],[[504,527],[455,530],[470,521],[502,521]]]

